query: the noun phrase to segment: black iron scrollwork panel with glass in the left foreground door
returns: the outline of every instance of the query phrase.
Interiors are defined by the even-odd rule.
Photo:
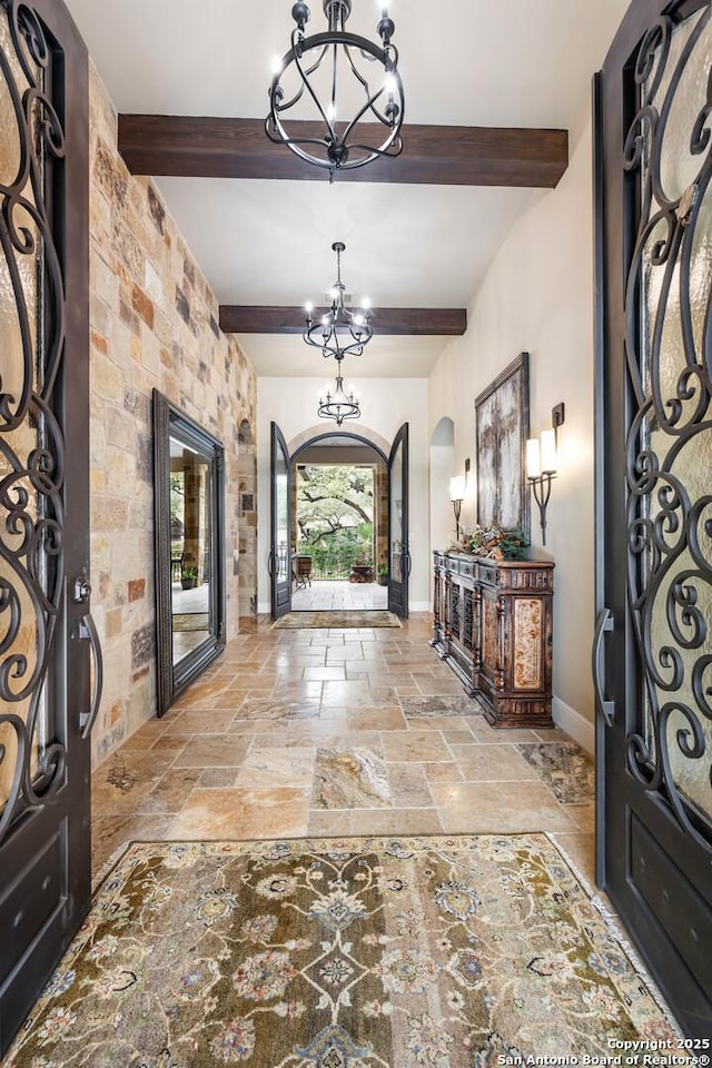
[[[0,840],[62,780],[48,669],[63,597],[62,275],[51,196],[65,152],[52,56],[29,3],[0,0]]]

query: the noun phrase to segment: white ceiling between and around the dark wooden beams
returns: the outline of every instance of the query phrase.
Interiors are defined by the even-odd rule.
[[[264,118],[291,0],[66,0],[118,111]],[[375,0],[349,29],[374,38]],[[324,29],[312,0],[313,32]],[[571,128],[627,0],[393,0],[406,117]],[[284,151],[287,151],[285,149]],[[404,154],[407,152],[407,126]],[[221,304],[318,305],[343,277],[375,307],[466,307],[525,189],[159,178]],[[298,336],[240,335],[259,375],[324,375]],[[379,338],[352,376],[425,376],[443,338]],[[377,345],[377,348],[376,348]],[[370,349],[374,352],[370,353]]]

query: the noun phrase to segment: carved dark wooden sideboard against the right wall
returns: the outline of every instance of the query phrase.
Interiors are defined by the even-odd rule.
[[[434,553],[431,644],[493,726],[552,726],[554,564]]]

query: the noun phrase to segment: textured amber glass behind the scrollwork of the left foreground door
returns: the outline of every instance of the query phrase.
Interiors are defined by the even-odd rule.
[[[29,51],[23,52],[27,69],[20,62],[4,6],[0,6],[0,50],[9,67],[0,72],[0,182],[6,189],[14,185],[17,191],[23,134],[9,81],[23,97],[34,86],[42,88],[44,78]],[[39,109],[36,102],[30,132],[41,174],[44,149],[38,120],[43,115]],[[49,413],[40,399],[57,354],[44,344],[44,247],[29,168],[21,196],[9,206],[9,222],[23,250],[14,247],[8,234],[0,256],[0,705],[27,728],[34,781],[52,733],[47,722],[46,673],[60,593],[62,515],[56,482],[61,446],[50,434]],[[13,792],[18,740],[16,728],[0,722],[0,810]]]

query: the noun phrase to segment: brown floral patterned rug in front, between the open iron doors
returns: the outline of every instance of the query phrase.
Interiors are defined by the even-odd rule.
[[[6,1068],[485,1068],[666,1039],[544,834],[135,843]]]

